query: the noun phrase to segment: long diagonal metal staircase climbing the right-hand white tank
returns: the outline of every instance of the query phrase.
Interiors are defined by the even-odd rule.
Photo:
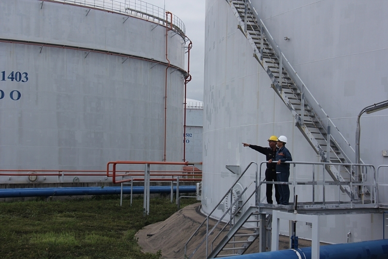
[[[264,68],[272,81],[276,94],[289,108],[302,132],[323,162],[353,163],[355,151],[339,132],[321,105],[311,95],[304,82],[292,68],[275,40],[268,32],[250,0],[226,0],[238,20],[238,28],[249,41],[253,56]],[[287,65],[287,69],[285,67]],[[329,143],[329,144],[328,144]],[[355,170],[344,167],[342,172],[334,166],[325,169],[334,181],[360,180]],[[359,199],[362,190],[352,191],[342,186],[351,199]]]

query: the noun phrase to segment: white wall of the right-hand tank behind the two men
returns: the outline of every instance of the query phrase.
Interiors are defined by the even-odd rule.
[[[256,0],[254,4],[290,63],[354,146],[357,114],[365,106],[388,98],[388,36],[381,33],[388,25],[388,3]],[[267,146],[270,135],[286,135],[294,161],[320,162],[320,157],[294,127],[288,108],[270,88],[271,81],[253,58],[253,50],[237,29],[237,19],[225,0],[206,1],[205,26],[202,203],[207,213],[236,179],[225,165],[240,165],[243,170],[251,161],[265,160],[242,142]],[[291,40],[285,41],[286,36]],[[361,158],[376,167],[388,163],[381,155],[388,149],[387,115],[386,110],[361,118]],[[380,180],[388,182],[387,171],[382,173]],[[253,176],[254,169],[249,169],[242,185],[253,182]],[[311,190],[298,192],[298,201],[311,200]],[[326,194],[338,196],[338,191],[326,189]],[[387,202],[387,196],[387,190],[380,190],[382,201]],[[216,211],[217,216],[222,215],[221,210]],[[352,242],[380,239],[381,226],[381,214],[327,216],[321,223],[321,237],[326,242],[346,242],[346,233],[352,230]],[[288,225],[282,231],[287,232]],[[299,233],[311,235],[305,226]]]

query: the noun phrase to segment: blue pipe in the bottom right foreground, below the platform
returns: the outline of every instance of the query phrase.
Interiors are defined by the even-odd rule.
[[[300,255],[300,257],[298,256]],[[358,243],[340,243],[320,246],[320,259],[387,259],[388,240],[374,240]],[[311,247],[286,249],[224,259],[311,259]]]

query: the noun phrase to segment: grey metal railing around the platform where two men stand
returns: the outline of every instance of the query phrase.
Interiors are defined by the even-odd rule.
[[[305,201],[298,201],[298,206],[307,206],[308,209],[319,209],[319,208],[355,208],[357,206],[363,207],[364,204],[370,204],[369,206],[373,206],[375,208],[378,207],[378,184],[377,184],[377,173],[372,164],[354,164],[354,163],[331,163],[331,162],[285,162],[291,165],[290,171],[293,171],[291,175],[291,179],[287,182],[278,182],[278,181],[265,181],[261,180],[261,167],[266,161],[260,163],[259,169],[259,186],[257,192],[256,206],[261,207],[262,204],[261,199],[261,185],[262,184],[278,184],[278,185],[290,185],[293,191],[292,202],[295,201],[295,196],[304,197]],[[273,162],[276,163],[276,162]],[[304,168],[301,168],[301,167]],[[354,180],[352,177],[345,179],[345,181],[333,181],[327,172],[325,171],[325,166],[335,166],[338,168],[338,172],[344,170],[342,167],[350,167],[355,169],[356,166],[360,166],[362,168],[361,177],[359,180]],[[293,167],[293,168],[292,168]],[[310,169],[306,168],[310,167]],[[299,171],[303,171],[303,173],[299,174]],[[307,176],[306,172],[310,171],[311,174]],[[353,170],[354,171],[354,170]],[[327,174],[327,175],[326,175]],[[372,175],[372,178],[368,177]],[[303,179],[305,178],[305,179]],[[297,180],[303,179],[303,180]],[[306,201],[307,195],[304,193],[300,193],[300,190],[297,190],[298,186],[311,186],[311,199]],[[326,189],[331,186],[338,187],[338,199],[327,199],[328,194],[326,193]],[[341,186],[349,186],[352,192],[352,195],[348,199],[341,200]],[[371,190],[371,193],[366,193],[368,187]],[[332,189],[330,189],[332,191]],[[322,192],[322,193],[318,193]],[[331,196],[333,193],[331,193]],[[370,197],[367,197],[367,196]],[[320,199],[317,200],[317,196]],[[358,198],[357,198],[358,197]]]

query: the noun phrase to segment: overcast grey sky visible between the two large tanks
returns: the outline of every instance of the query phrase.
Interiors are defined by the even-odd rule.
[[[119,1],[124,2],[125,0]],[[187,84],[187,98],[203,101],[205,0],[144,1],[161,8],[164,7],[165,3],[166,11],[178,16],[185,24],[186,35],[193,42],[193,48],[190,51],[190,74],[193,80]],[[187,59],[185,63],[187,66]]]

